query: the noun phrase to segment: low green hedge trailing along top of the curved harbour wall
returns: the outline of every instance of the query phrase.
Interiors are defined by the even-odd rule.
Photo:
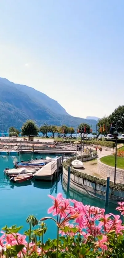
[[[71,165],[71,162],[72,162],[72,158],[71,158],[71,160],[67,159],[66,161],[63,162],[63,167],[66,170],[68,170],[68,166]],[[70,173],[73,174],[73,175],[76,175],[80,178],[86,179],[86,180],[88,180],[92,183],[96,183],[96,184],[100,184],[102,186],[106,186],[106,180],[105,179],[101,179],[101,178],[93,176],[93,175],[87,175],[86,173],[79,172],[72,167],[70,167]],[[114,185],[114,183],[110,181],[110,188],[112,188],[113,191],[114,190],[124,191],[124,184],[117,183],[117,184]]]

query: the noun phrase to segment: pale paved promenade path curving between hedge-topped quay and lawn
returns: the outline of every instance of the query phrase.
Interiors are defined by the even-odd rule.
[[[92,147],[92,149],[95,150],[95,148]],[[104,157],[104,156],[108,156],[111,155],[113,152],[112,151],[105,151],[104,149],[102,149],[102,153],[100,153],[100,151],[97,151],[98,153],[98,158]],[[83,162],[83,168],[82,169],[78,169],[78,171],[82,172],[82,173],[86,173],[88,175],[94,175],[103,179],[106,179],[106,177],[100,175],[98,173],[98,169],[97,169],[97,159],[93,159],[90,161],[85,161]]]

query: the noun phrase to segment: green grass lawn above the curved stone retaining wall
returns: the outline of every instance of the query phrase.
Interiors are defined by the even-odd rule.
[[[100,159],[101,162],[103,162],[106,165],[109,165],[111,167],[114,167],[115,164],[115,156],[114,155],[109,155],[102,157]],[[122,157],[117,157],[117,167],[124,169],[124,158]]]

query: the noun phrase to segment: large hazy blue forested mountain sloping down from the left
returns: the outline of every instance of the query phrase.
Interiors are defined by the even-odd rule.
[[[0,78],[0,131],[8,131],[10,126],[20,129],[27,119],[35,120],[38,126],[48,123],[76,128],[88,123],[93,130],[97,123],[69,115],[57,101],[34,88]]]

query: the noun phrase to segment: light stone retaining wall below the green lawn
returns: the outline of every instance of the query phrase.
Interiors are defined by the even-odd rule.
[[[98,159],[98,173],[105,178],[110,177],[110,181],[114,181],[114,167],[108,166]],[[124,183],[124,169],[116,169],[116,183]]]

